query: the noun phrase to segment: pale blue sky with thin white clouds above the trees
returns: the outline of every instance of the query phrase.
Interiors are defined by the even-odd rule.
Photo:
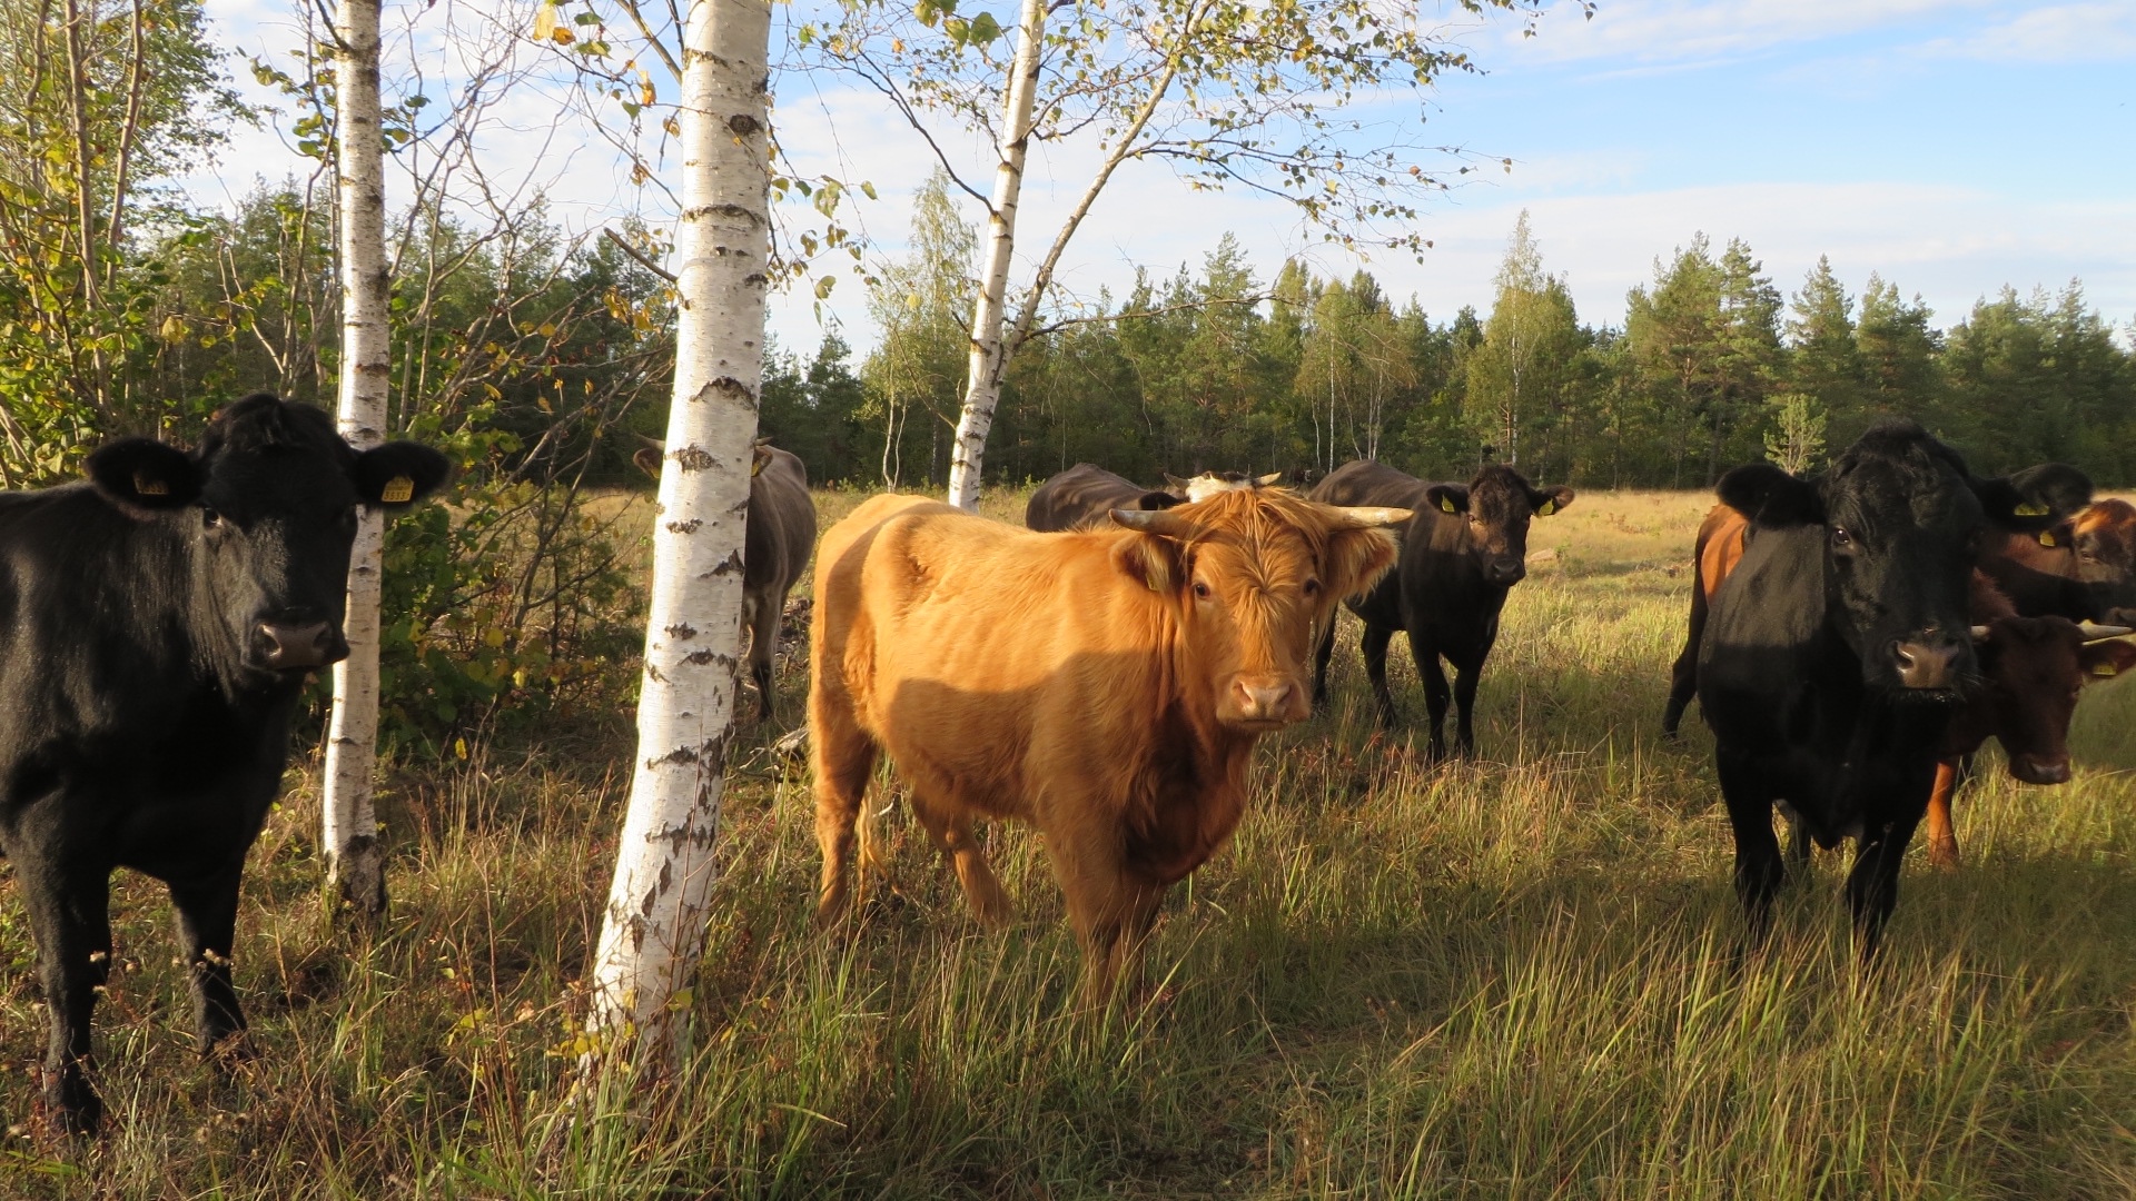
[[[1012,9],[993,6],[1004,19]],[[410,45],[440,64],[466,36],[449,34],[436,9],[391,0],[389,24],[395,9]],[[209,11],[241,51],[293,43],[280,4],[209,0]],[[485,11],[528,28],[513,0]],[[1559,6],[1534,38],[1506,21],[1459,36],[1489,73],[1429,96],[1427,137],[1512,158],[1512,171],[1487,171],[1425,212],[1435,248],[1423,263],[1367,265],[1433,316],[1489,308],[1523,207],[1544,267],[1566,278],[1587,321],[1621,321],[1625,288],[1696,231],[1747,239],[1790,293],[1818,254],[1854,293],[1880,271],[1920,293],[1939,325],[2004,284],[2059,288],[2072,276],[2110,321],[2136,316],[2136,0],[1600,0],[1593,21]],[[918,139],[871,94],[835,81],[784,77],[778,96],[782,141],[803,169],[876,184],[880,201],[857,218],[895,254],[929,167]],[[500,107],[485,152],[545,190],[572,231],[632,207],[662,216],[660,199],[624,184],[602,143],[538,88]],[[961,154],[983,177],[985,147]],[[246,132],[192,188],[226,199],[293,167],[276,135]],[[1087,167],[1072,147],[1036,156],[1030,246],[1051,237]],[[1136,263],[1168,274],[1224,231],[1269,274],[1299,252],[1324,274],[1358,267],[1279,203],[1190,194],[1160,167],[1132,167],[1070,250],[1064,282],[1077,295],[1117,293]],[[865,346],[861,301],[848,280],[824,312]],[[822,333],[807,297],[775,299],[771,321],[790,348]]]

